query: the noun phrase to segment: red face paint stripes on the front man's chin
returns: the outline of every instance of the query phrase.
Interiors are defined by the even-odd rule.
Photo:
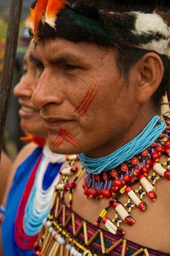
[[[59,128],[59,134],[54,140],[52,140],[51,133],[48,133],[48,140],[49,143],[54,146],[54,148],[59,147],[59,145],[61,145],[64,140],[73,145],[74,147],[77,147],[78,144],[78,141],[73,137],[73,135],[69,131],[62,129],[61,127]]]

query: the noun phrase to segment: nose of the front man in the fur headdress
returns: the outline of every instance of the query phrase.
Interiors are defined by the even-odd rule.
[[[44,71],[31,98],[34,107],[42,110],[47,104],[61,105],[63,95],[60,89],[59,80],[54,79],[53,75]]]

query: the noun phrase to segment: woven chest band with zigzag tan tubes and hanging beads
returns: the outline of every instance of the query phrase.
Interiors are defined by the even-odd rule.
[[[153,250],[130,240],[120,239],[119,236],[113,235],[106,230],[98,229],[67,207],[59,198],[59,195],[57,195],[57,201],[54,205],[56,205],[55,209],[51,209],[48,219],[44,223],[48,227],[46,229],[49,232],[48,236],[46,236],[46,239],[43,236],[45,230],[43,225],[39,239],[34,246],[35,255],[45,256],[52,241],[55,241],[55,243],[51,252],[55,250],[56,254],[50,255],[57,255],[59,247],[63,247],[66,243],[65,239],[69,238],[69,242],[66,245],[67,256],[69,252],[72,256],[96,256],[101,255],[101,253],[110,256],[137,256],[139,254],[141,256],[170,256],[170,253]],[[54,229],[57,231],[54,231]],[[46,242],[43,243],[42,249],[39,244],[44,239]],[[43,251],[42,254],[38,253],[40,250]]]

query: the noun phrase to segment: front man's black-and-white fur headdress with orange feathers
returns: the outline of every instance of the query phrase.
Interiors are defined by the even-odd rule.
[[[130,3],[133,2],[136,1],[130,0]],[[60,37],[73,42],[93,41],[105,46],[125,45],[170,58],[170,4],[168,2],[164,11],[155,9],[155,6],[152,13],[131,9],[129,12],[114,12],[108,7],[99,8],[98,0],[75,0],[72,6],[66,0],[48,0],[42,23],[40,26],[36,23],[39,29],[30,29],[30,34],[34,38],[35,33],[38,34],[40,40]]]

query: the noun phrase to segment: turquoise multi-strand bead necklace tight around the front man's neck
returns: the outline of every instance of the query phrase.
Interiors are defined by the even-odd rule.
[[[107,157],[89,158],[85,153],[79,154],[79,160],[89,174],[100,174],[102,171],[110,170],[121,163],[130,160],[148,148],[164,131],[166,123],[162,120],[156,127],[160,116],[153,116],[144,130],[133,140],[122,146]]]

